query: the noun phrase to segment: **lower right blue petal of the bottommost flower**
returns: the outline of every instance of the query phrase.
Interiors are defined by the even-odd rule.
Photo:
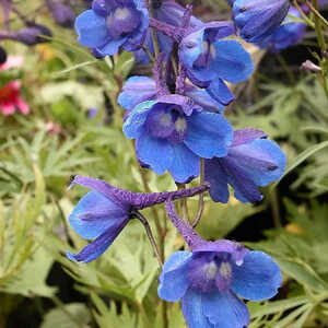
[[[231,292],[202,294],[202,312],[215,328],[244,328],[249,324],[247,306]]]

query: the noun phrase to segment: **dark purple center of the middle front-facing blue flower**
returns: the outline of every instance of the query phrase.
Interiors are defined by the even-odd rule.
[[[173,143],[183,142],[187,132],[187,120],[180,106],[157,103],[150,110],[145,129],[154,138],[168,139]]]

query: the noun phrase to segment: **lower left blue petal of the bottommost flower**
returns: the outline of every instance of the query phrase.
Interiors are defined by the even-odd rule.
[[[181,300],[183,314],[189,328],[215,328],[203,314],[203,295],[196,289],[189,289]]]

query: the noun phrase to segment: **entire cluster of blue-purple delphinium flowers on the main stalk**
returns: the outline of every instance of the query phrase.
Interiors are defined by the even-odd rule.
[[[153,77],[131,77],[118,103],[126,110],[122,125],[136,141],[141,166],[177,184],[201,176],[201,185],[160,194],[134,194],[103,180],[78,176],[72,184],[92,189],[69,222],[85,239],[80,262],[96,259],[139,210],[165,202],[169,219],[190,251],[173,254],[163,266],[159,295],[183,301],[190,328],[242,328],[249,323],[238,298],[260,301],[281,285],[278,265],[261,251],[249,251],[230,241],[206,242],[175,213],[173,200],[209,190],[213,201],[227,202],[229,185],[242,202],[262,199],[259,187],[278,180],[285,168],[284,153],[257,129],[234,130],[224,117],[235,96],[229,83],[247,80],[250,55],[232,36],[253,43],[272,37],[286,16],[289,1],[229,1],[234,22],[203,23],[171,0],[94,0],[78,16],[79,42],[97,58],[125,49],[136,59],[152,61]]]

